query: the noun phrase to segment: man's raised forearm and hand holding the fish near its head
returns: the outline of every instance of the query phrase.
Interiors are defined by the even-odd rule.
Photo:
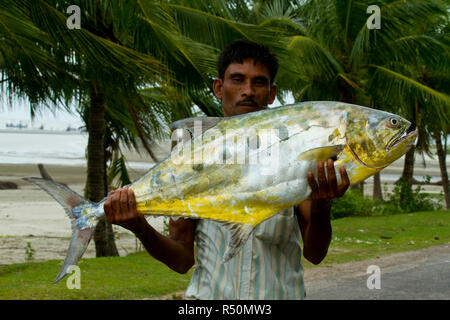
[[[322,162],[317,165],[316,182],[312,172],[308,172],[311,200],[298,206],[298,222],[303,238],[303,256],[311,263],[319,264],[327,255],[331,242],[331,201],[342,197],[350,185],[346,170],[339,168],[342,183],[338,186],[333,160],[327,161],[327,176]]]

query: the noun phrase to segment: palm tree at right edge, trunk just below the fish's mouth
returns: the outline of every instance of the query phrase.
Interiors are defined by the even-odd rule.
[[[416,3],[421,5],[420,2]],[[413,3],[412,6],[415,4]],[[403,36],[396,40],[401,49],[411,48],[406,59],[386,61],[390,70],[378,68],[379,72],[387,77],[374,76],[372,84],[383,90],[379,94],[379,101],[385,104],[397,105],[397,109],[407,115],[419,129],[417,146],[405,155],[405,165],[400,181],[402,181],[402,194],[411,192],[414,183],[414,153],[426,152],[430,155],[429,143],[432,136],[436,136],[432,127],[445,128],[450,119],[450,99],[445,86],[435,85],[439,78],[448,77],[449,70],[449,41],[442,30],[448,26],[448,3],[430,2],[431,8],[440,6],[439,11],[429,11],[428,23],[415,24]],[[429,8],[430,9],[430,8]],[[419,41],[416,41],[419,40]],[[417,54],[413,54],[415,50]],[[407,51],[405,51],[407,52]],[[405,78],[408,77],[408,80]],[[442,83],[442,81],[440,81]],[[438,90],[436,90],[438,89]],[[393,93],[385,95],[385,92]],[[395,108],[393,109],[395,110]],[[434,118],[429,116],[433,115]],[[440,121],[436,121],[440,120]]]

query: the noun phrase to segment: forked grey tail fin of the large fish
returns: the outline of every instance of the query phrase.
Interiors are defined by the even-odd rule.
[[[85,200],[75,191],[65,185],[41,178],[23,178],[39,186],[52,196],[66,211],[72,222],[72,239],[66,258],[56,280],[57,283],[69,272],[70,267],[76,265],[83,256],[89,241],[94,234],[95,226],[103,215],[103,208],[99,204]]]

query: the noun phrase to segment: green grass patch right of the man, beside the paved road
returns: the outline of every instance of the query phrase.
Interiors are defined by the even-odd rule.
[[[332,221],[333,236],[319,266],[365,260],[450,242],[450,211],[427,211]],[[314,267],[303,259],[305,268]]]

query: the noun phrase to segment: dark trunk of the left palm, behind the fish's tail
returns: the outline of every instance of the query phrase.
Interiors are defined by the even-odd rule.
[[[87,196],[94,202],[107,194],[104,148],[105,96],[101,86],[91,85],[89,108]],[[103,219],[94,233],[96,257],[118,256],[112,226]]]

